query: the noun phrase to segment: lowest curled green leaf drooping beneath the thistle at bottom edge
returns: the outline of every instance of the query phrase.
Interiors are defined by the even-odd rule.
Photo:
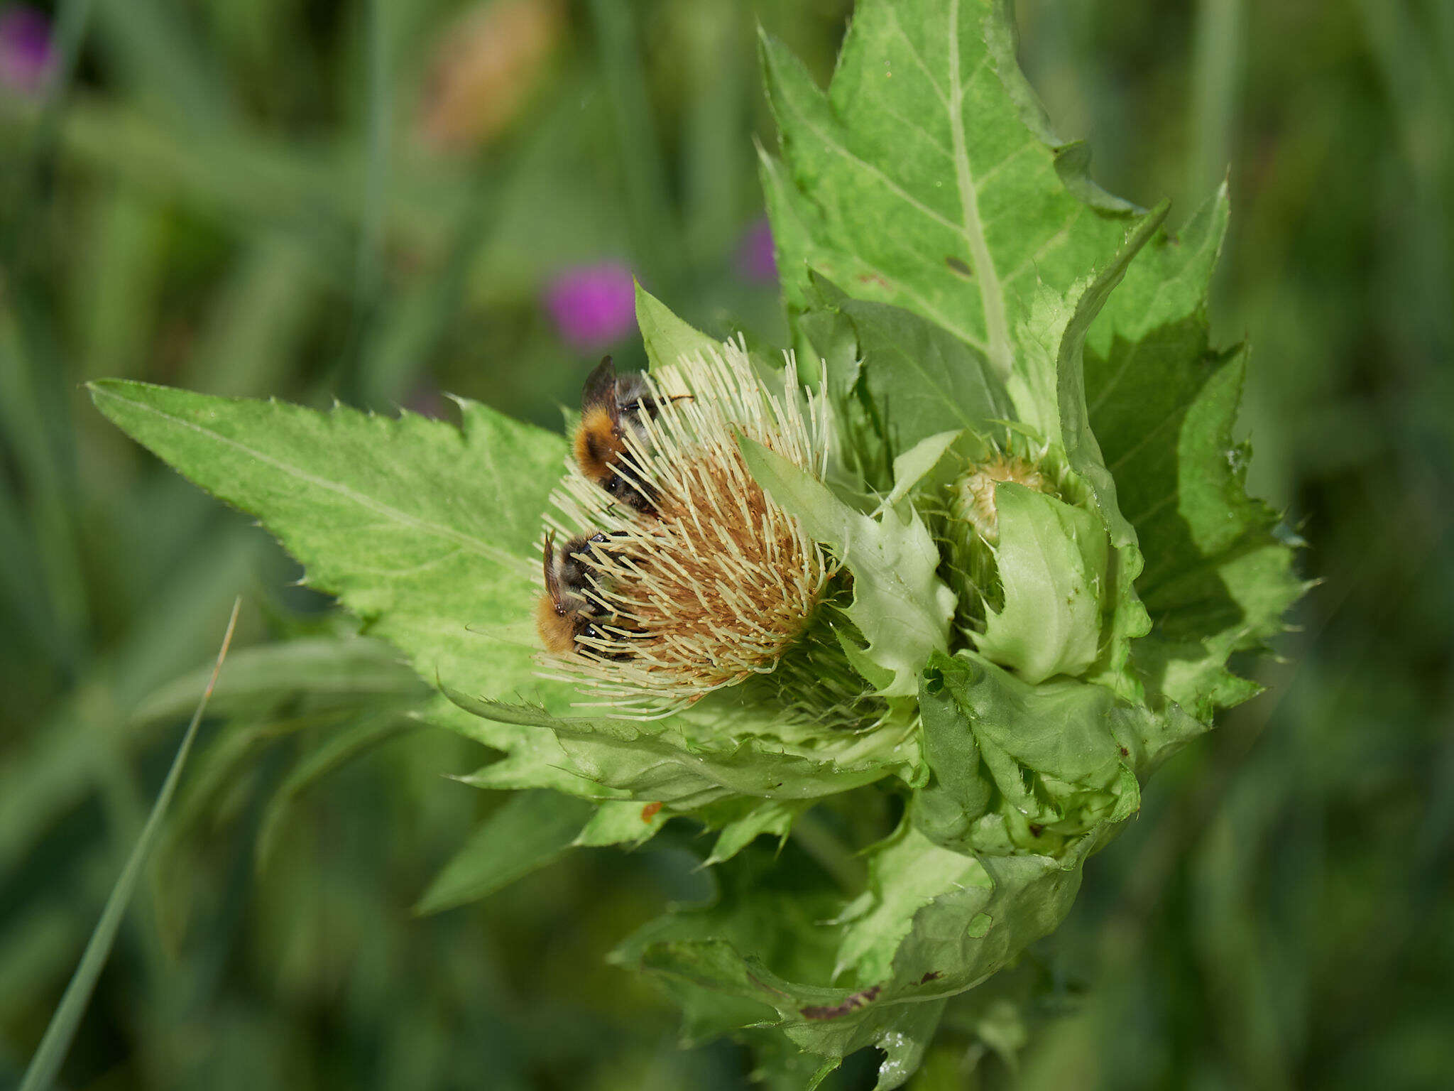
[[[715,1026],[721,1033],[730,1026],[721,1021],[731,1017],[740,1020],[737,1026],[760,1024],[775,1012],[782,1033],[817,1056],[838,1059],[877,1046],[885,1053],[878,1087],[901,1087],[938,1026],[945,998],[1059,924],[1079,884],[1089,841],[1070,863],[1015,857],[980,867],[973,857],[929,845],[906,825],[883,851],[891,858],[880,876],[891,882],[855,906],[865,928],[883,928],[881,941],[862,948],[874,951],[872,966],[883,964],[878,951],[897,946],[888,976],[875,985],[813,983],[823,979],[824,956],[838,954],[833,941],[843,930],[804,919],[806,911],[822,914],[822,906],[774,887],[774,879],[782,882],[776,873],[759,879],[749,871],[718,905],[654,921],[621,948],[619,960],[657,978],[683,1005],[689,1027]],[[952,876],[967,877],[967,884],[945,874],[947,860]],[[743,898],[744,880],[758,880],[746,887],[750,898]],[[878,906],[884,912],[877,914]],[[899,911],[912,914],[907,935]]]

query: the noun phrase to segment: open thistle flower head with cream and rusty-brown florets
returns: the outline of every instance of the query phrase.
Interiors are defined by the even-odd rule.
[[[792,385],[768,390],[746,348],[727,342],[647,377],[654,415],[622,436],[616,473],[653,511],[618,503],[571,467],[547,532],[593,537],[579,554],[605,621],[551,676],[616,714],[659,714],[771,672],[803,636],[835,563],[753,480],[739,435],[822,479],[829,422]]]

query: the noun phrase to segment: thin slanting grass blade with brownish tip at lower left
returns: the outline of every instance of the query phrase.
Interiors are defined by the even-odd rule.
[[[65,994],[61,996],[61,1002],[51,1017],[51,1024],[45,1028],[45,1036],[41,1039],[35,1056],[31,1058],[31,1068],[26,1069],[25,1079],[20,1082],[20,1091],[45,1091],[45,1088],[49,1088],[55,1082],[61,1062],[65,1060],[71,1039],[76,1036],[76,1027],[86,1014],[86,1004],[90,1001],[92,991],[96,988],[96,979],[100,976],[102,967],[106,964],[106,957],[111,954],[111,946],[116,940],[116,930],[121,928],[121,921],[131,902],[131,893],[137,887],[137,879],[141,877],[141,867],[147,861],[147,855],[161,831],[161,818],[167,812],[167,804],[172,803],[172,796],[176,794],[177,781],[182,778],[182,767],[186,764],[188,752],[192,749],[192,740],[196,738],[196,726],[202,722],[202,714],[206,711],[206,700],[212,695],[212,687],[217,685],[217,675],[221,672],[222,660],[227,659],[227,649],[233,643],[233,630],[237,627],[237,611],[241,604],[241,599],[233,602],[233,614],[227,620],[227,633],[222,636],[222,646],[217,652],[212,676],[206,684],[206,690],[202,691],[202,700],[198,701],[196,711],[192,713],[192,722],[182,736],[182,745],[177,746],[176,758],[172,759],[172,768],[167,771],[167,778],[157,794],[157,802],[151,807],[147,825],[131,850],[131,857],[126,860],[116,886],[112,887],[111,898],[106,899],[106,908],[102,911],[100,921],[96,922],[96,931],[92,932],[90,943],[86,944],[86,953],[81,954],[80,964],[76,967],[76,973],[71,975],[70,985],[65,986]]]

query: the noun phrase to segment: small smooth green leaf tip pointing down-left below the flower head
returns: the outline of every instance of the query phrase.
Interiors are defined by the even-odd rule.
[[[595,812],[595,803],[548,788],[516,794],[445,864],[414,912],[454,909],[545,867],[571,847]]]

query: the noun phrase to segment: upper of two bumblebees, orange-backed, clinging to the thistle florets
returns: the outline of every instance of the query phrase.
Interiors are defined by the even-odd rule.
[[[646,441],[644,419],[662,409],[638,372],[618,375],[611,356],[586,377],[574,454],[580,471],[611,496],[646,515],[656,513],[656,493],[631,460],[625,435]]]

